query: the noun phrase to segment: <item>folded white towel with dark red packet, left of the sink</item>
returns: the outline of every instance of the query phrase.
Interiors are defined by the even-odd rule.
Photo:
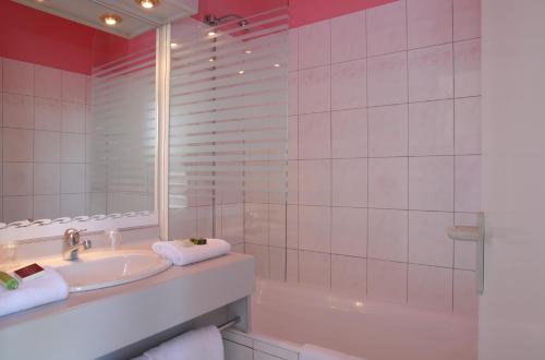
[[[51,267],[38,278],[20,281],[15,290],[0,286],[0,316],[65,299],[69,285]]]

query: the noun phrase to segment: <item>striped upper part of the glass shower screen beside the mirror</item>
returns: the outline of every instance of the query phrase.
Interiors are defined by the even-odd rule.
[[[288,12],[245,20],[172,24],[171,209],[286,202]]]

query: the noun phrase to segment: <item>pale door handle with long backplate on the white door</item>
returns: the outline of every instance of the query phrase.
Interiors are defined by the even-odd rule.
[[[476,243],[476,291],[482,295],[484,291],[484,214],[477,214],[477,226],[452,226],[448,228],[447,232],[452,240],[474,241]]]

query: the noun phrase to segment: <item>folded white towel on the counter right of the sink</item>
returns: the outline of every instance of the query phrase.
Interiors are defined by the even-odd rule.
[[[184,247],[181,240],[157,241],[152,249],[161,257],[170,260],[178,266],[189,265],[210,257],[227,254],[231,251],[229,242],[221,239],[206,239],[204,245]]]

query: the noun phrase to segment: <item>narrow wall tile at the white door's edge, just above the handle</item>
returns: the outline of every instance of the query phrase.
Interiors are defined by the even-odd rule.
[[[481,156],[456,156],[455,211],[481,211]]]

